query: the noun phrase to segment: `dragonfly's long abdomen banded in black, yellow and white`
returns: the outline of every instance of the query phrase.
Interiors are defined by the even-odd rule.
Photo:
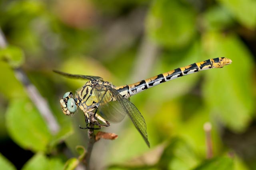
[[[228,65],[231,62],[232,60],[224,57],[209,59],[203,62],[190,64],[185,67],[176,68],[172,71],[159,74],[157,76],[148,78],[146,80],[136,82],[134,84],[119,86],[119,87],[116,87],[116,90],[125,98],[129,98],[130,96],[133,96],[139,92],[142,92],[150,87],[154,87],[158,84],[173,80],[175,78],[186,76],[188,74],[192,74],[201,70],[208,70],[211,68],[222,68],[223,66]]]

